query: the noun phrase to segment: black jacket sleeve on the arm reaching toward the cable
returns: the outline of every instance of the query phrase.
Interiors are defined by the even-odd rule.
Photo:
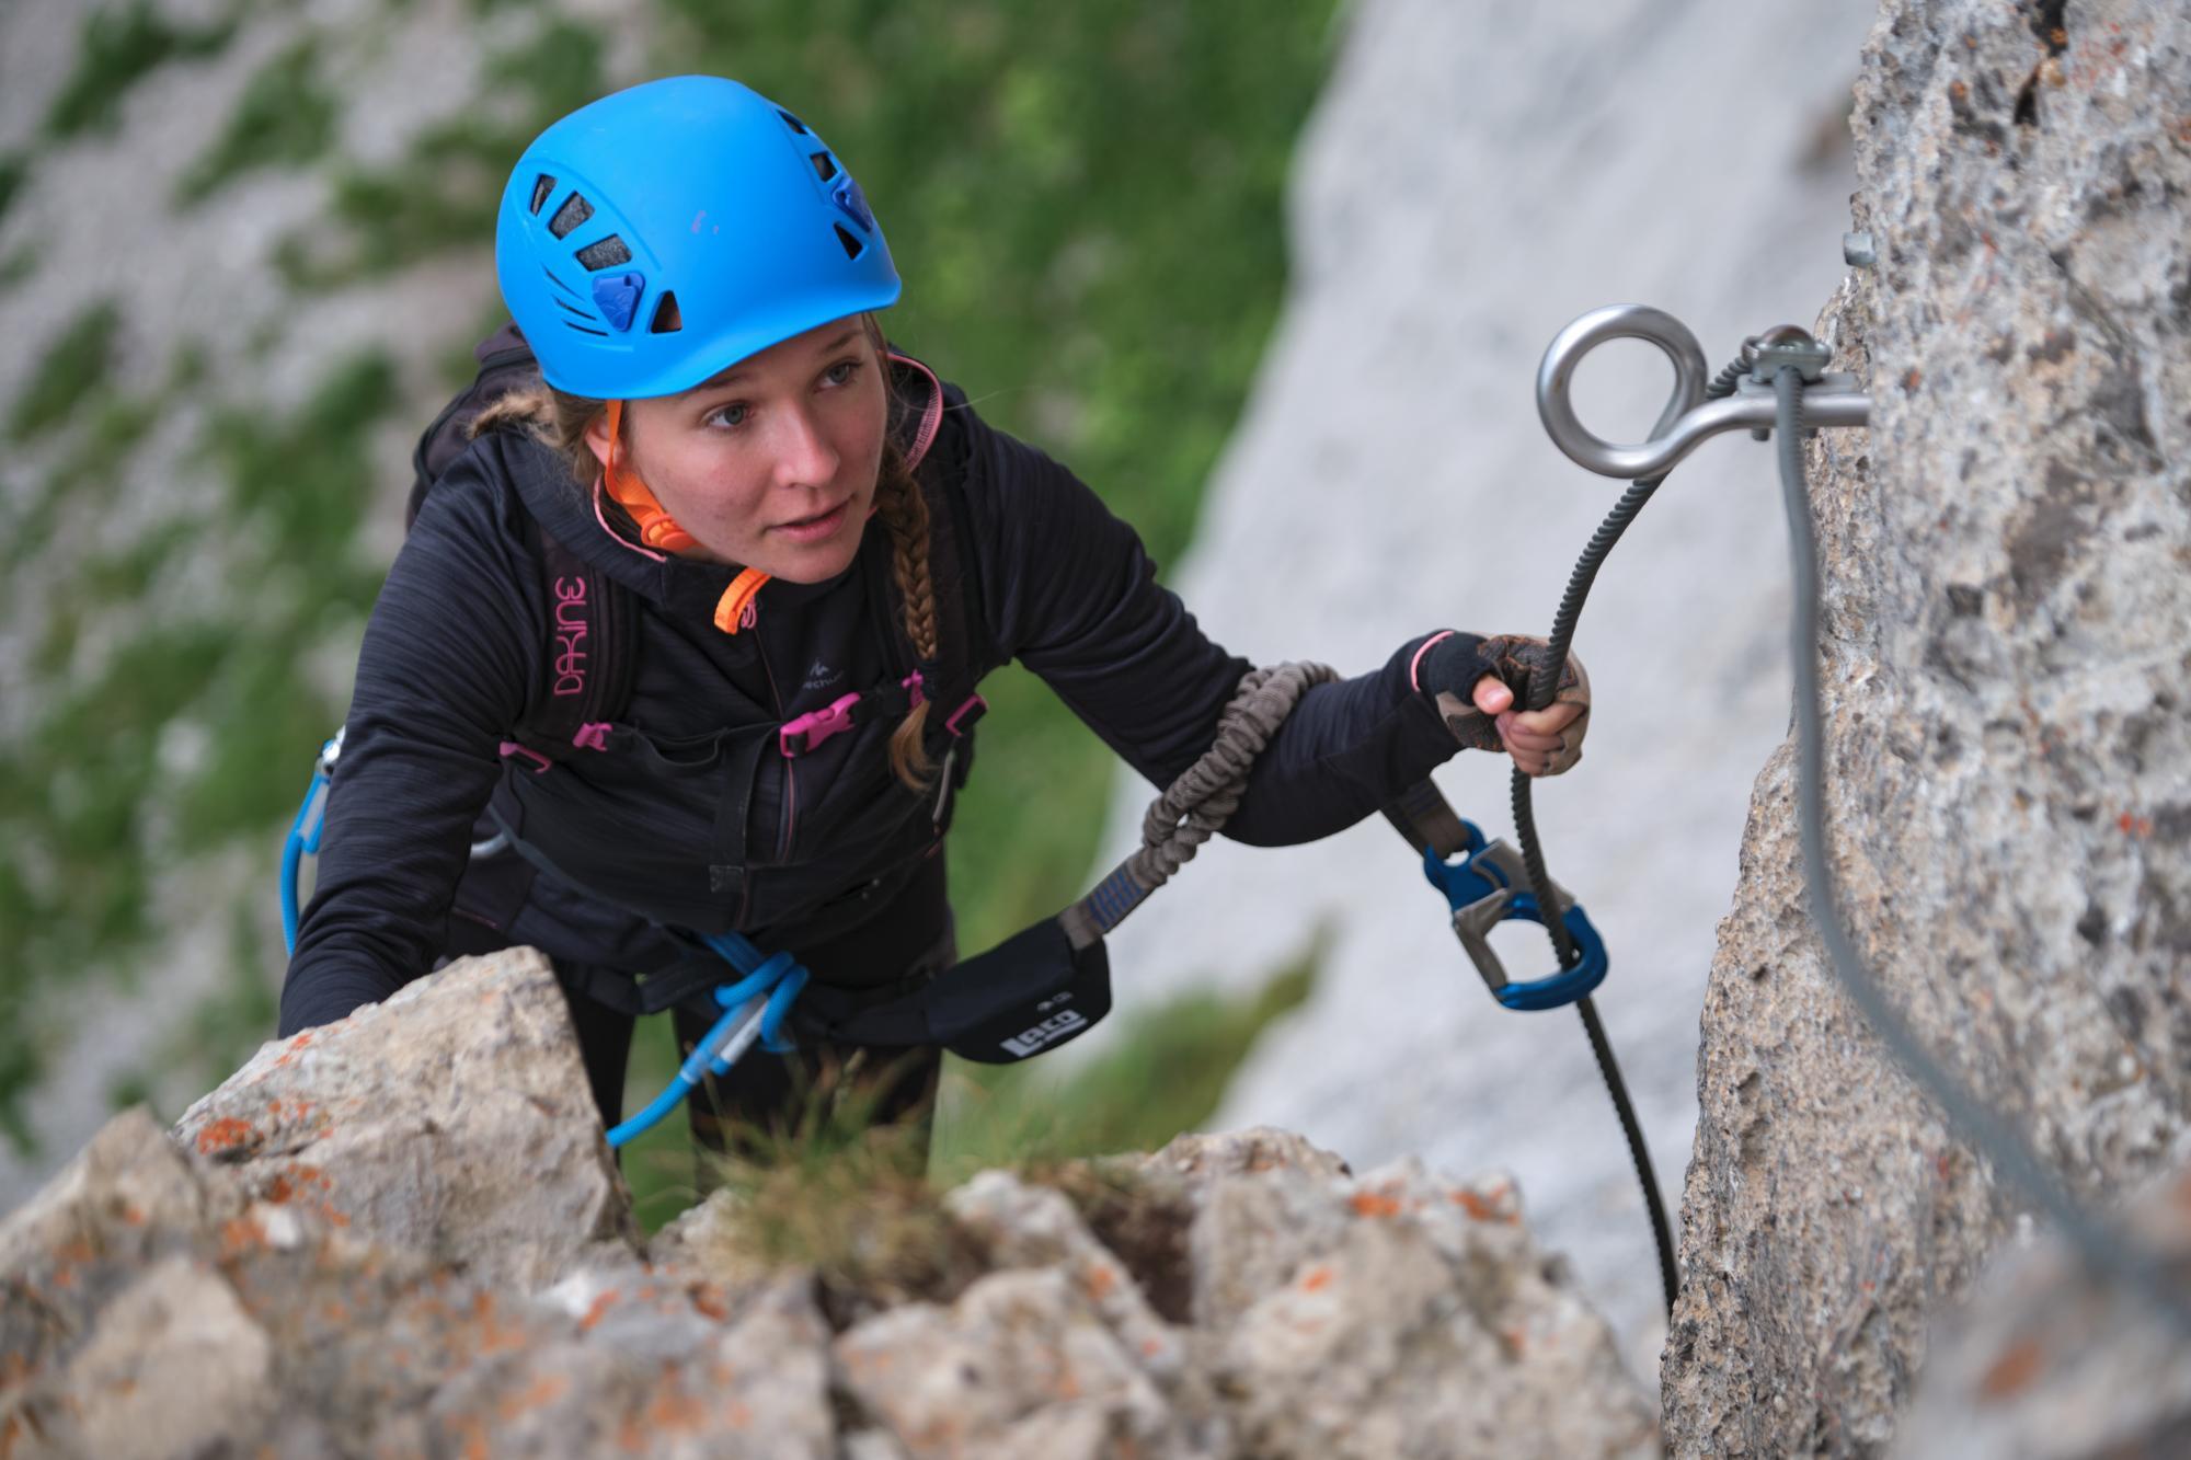
[[[1071,471],[960,406],[971,557],[999,653],[1049,684],[1152,785],[1216,739],[1251,664],[1214,645],[1157,583],[1142,539]],[[1431,774],[1457,743],[1418,693],[1409,640],[1372,673],[1310,688],[1255,761],[1225,835],[1312,842]]]

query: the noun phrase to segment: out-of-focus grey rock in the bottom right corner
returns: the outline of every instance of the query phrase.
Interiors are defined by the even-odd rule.
[[[2191,1173],[2160,1182],[2132,1232],[2178,1274]],[[1895,1453],[1911,1460],[2086,1460],[2191,1449],[2191,1342],[2060,1239],[2011,1252],[1937,1337]]]

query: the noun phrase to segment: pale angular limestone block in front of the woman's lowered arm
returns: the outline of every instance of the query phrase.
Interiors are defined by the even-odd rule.
[[[546,1287],[638,1243],[554,971],[467,958],[267,1043],[175,1127],[243,1188],[397,1247]]]

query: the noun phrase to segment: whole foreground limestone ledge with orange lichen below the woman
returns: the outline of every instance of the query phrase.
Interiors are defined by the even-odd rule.
[[[1244,1131],[1074,1179],[947,1195],[979,1271],[898,1307],[741,1261],[732,1190],[646,1254],[552,971],[467,960],[0,1225],[0,1456],[1656,1451],[1505,1177]]]

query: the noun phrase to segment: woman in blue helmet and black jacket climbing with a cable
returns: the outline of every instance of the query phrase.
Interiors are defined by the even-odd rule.
[[[548,127],[495,265],[539,377],[478,417],[372,609],[280,1030],[535,945],[616,1125],[633,991],[677,993],[690,1048],[710,936],[793,951],[839,1013],[951,986],[940,848],[984,673],[1019,660],[1168,785],[1249,664],[1096,493],[885,344],[901,285],[859,186],[745,85]],[[1227,835],[1328,835],[1461,745],[1567,769],[1588,688],[1571,666],[1514,710],[1532,645],[1424,634],[1308,688]],[[695,1136],[784,1125],[854,1054],[754,1050]],[[870,1118],[922,1125],[940,1050],[863,1059],[896,1072]]]

